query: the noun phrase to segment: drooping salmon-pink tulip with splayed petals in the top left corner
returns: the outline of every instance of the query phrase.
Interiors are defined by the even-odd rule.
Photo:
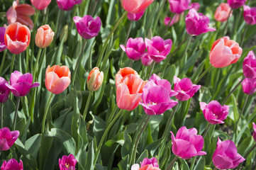
[[[45,0],[44,0],[45,1]],[[30,30],[33,29],[34,23],[28,16],[33,16],[35,9],[28,4],[18,4],[18,0],[13,1],[13,5],[6,12],[8,23],[21,23],[28,26]]]

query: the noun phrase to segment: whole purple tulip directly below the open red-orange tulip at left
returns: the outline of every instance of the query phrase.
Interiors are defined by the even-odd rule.
[[[11,73],[10,84],[6,83],[6,86],[11,90],[11,93],[17,97],[26,96],[31,88],[40,85],[38,82],[33,83],[32,74],[21,74],[21,72],[18,71]]]

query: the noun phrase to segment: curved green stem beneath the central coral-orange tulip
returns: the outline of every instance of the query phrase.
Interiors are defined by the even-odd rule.
[[[111,123],[108,125],[108,127],[106,128],[104,134],[102,135],[101,137],[101,140],[99,142],[99,146],[96,148],[96,154],[95,154],[95,157],[94,157],[94,166],[97,162],[97,159],[99,157],[99,152],[101,151],[101,146],[103,145],[103,142],[106,138],[106,135],[108,135],[108,131],[112,128],[113,124],[116,123],[116,120],[119,118],[119,116],[121,115],[121,113],[123,112],[123,110],[120,110],[116,116],[113,118],[113,120],[111,121]]]

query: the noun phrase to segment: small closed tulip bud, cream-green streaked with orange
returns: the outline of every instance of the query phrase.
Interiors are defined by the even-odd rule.
[[[99,72],[98,67],[94,67],[94,69],[91,70],[89,73],[88,79],[87,79],[87,88],[89,91],[97,91],[101,87],[101,84],[104,79],[104,73]]]

